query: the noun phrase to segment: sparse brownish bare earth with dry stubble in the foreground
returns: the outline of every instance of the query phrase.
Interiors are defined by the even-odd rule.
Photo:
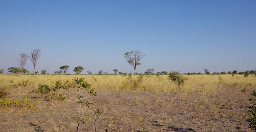
[[[223,87],[225,88],[225,87]],[[182,92],[96,90],[89,96],[98,116],[98,132],[249,132],[246,113],[252,91],[200,95]],[[75,132],[77,91],[65,101],[38,101],[34,108],[0,109],[0,132]],[[14,96],[14,95],[13,95]],[[94,117],[85,108],[79,132],[94,132]]]

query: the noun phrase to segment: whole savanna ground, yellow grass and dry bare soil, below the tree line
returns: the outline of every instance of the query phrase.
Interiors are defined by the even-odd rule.
[[[76,132],[74,78],[84,78],[97,94],[84,99],[102,111],[97,132],[251,131],[246,120],[255,75],[182,76],[183,86],[168,75],[0,75],[0,132]],[[42,94],[44,88],[56,91]],[[79,132],[95,132],[86,105]]]

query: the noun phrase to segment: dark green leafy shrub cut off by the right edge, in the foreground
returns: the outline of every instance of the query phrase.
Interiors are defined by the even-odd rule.
[[[255,96],[255,97],[252,98],[252,99],[249,99],[249,101],[253,102],[256,99],[256,92],[253,91],[252,95]],[[256,132],[256,106],[255,105],[256,104],[254,103],[253,105],[248,106],[248,108],[250,108],[250,110],[247,111],[247,113],[251,114],[251,117],[252,117],[252,119],[247,120],[247,122],[250,122],[249,127],[252,128],[252,130],[254,132]]]

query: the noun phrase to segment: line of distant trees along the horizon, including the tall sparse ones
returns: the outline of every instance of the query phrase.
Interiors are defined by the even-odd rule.
[[[35,71],[35,66],[37,64],[38,59],[40,58],[41,55],[41,49],[33,49],[31,50],[31,53],[25,54],[19,54],[19,58],[17,58],[18,61],[18,66],[19,67],[9,67],[7,70],[7,72],[9,72],[10,74],[39,74],[38,71]],[[145,54],[142,54],[140,51],[138,50],[133,50],[133,51],[129,51],[124,53],[124,58],[126,59],[126,62],[128,62],[129,65],[131,65],[134,69],[134,75],[139,74],[136,72],[136,68],[137,66],[140,66],[141,63],[141,59],[145,56]],[[30,73],[28,70],[26,70],[26,68],[24,67],[26,65],[27,59],[30,58],[34,70],[33,73]],[[67,74],[67,70],[69,69],[69,66],[65,65],[65,66],[61,66],[59,67],[60,70],[56,70],[54,71],[54,74]],[[84,68],[82,66],[76,66],[73,71],[75,72],[75,74],[81,74],[82,70],[84,70]],[[207,68],[203,69],[205,74],[211,74]],[[114,69],[114,75],[119,74],[119,75],[126,75],[127,73],[123,73],[123,72],[119,72],[117,69]],[[4,69],[0,69],[0,74],[4,74],[5,70]],[[90,72],[89,70],[87,71],[88,74],[93,74],[92,72]],[[48,74],[46,70],[41,70],[40,74]],[[102,75],[102,74],[108,74],[107,72],[102,72],[102,70],[100,70],[97,74]],[[132,74],[131,72],[129,74]],[[141,73],[142,74],[142,73]],[[163,75],[163,74],[168,74],[167,71],[162,71],[162,72],[156,72],[154,73],[154,69],[147,69],[145,71],[144,74],[156,74],[156,75]],[[185,73],[186,74],[186,73]],[[195,73],[195,72],[188,72],[188,75],[190,74],[202,74],[201,72],[199,73]],[[234,70],[233,72],[228,71],[222,71],[222,72],[213,72],[212,74],[256,74],[256,70],[246,70],[246,71],[241,71],[238,72],[237,70]]]

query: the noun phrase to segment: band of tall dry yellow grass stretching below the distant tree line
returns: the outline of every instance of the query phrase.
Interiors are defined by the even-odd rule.
[[[183,75],[188,77],[185,85],[177,88],[174,82],[168,79],[168,75],[144,75],[141,85],[146,90],[152,91],[183,91],[183,92],[199,92],[216,93],[221,92],[222,85],[229,87],[256,87],[256,76],[249,75],[245,78],[243,75]],[[128,76],[122,75],[0,75],[0,87],[12,86],[19,82],[27,83],[30,88],[36,88],[39,84],[53,86],[57,80],[72,81],[74,78],[85,78],[95,89],[111,89],[118,90],[125,82]],[[138,75],[132,78],[137,78]],[[222,79],[222,80],[221,80]]]

